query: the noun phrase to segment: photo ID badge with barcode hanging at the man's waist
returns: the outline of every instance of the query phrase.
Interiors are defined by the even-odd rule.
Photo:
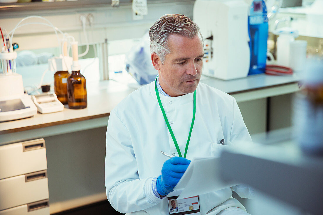
[[[177,199],[182,190],[175,190],[167,195],[168,212],[172,215],[201,215],[199,196]]]

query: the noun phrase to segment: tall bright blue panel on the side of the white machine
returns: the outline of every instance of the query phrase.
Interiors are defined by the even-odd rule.
[[[268,17],[263,0],[254,0],[249,9],[250,68],[248,75],[265,73],[267,58]]]

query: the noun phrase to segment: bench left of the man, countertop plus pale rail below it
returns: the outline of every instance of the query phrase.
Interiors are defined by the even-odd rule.
[[[61,112],[0,123],[1,144],[15,140],[59,135],[73,131],[106,126],[111,110],[135,89],[115,81],[87,84],[88,107],[79,110],[64,106]]]

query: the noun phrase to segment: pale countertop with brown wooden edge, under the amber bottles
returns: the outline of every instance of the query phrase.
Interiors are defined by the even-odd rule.
[[[109,116],[111,110],[133,91],[134,89],[115,81],[89,83],[87,108],[72,110],[65,105],[60,112],[37,113],[31,118],[0,122],[0,134]]]

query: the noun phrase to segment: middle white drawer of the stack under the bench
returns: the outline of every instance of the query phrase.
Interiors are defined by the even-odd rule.
[[[46,170],[0,180],[0,210],[48,198]]]

